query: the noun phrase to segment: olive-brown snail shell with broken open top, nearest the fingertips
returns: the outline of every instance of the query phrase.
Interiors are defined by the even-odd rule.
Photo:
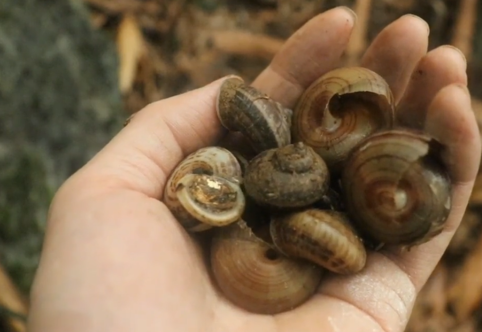
[[[358,142],[393,122],[387,82],[365,68],[340,68],[304,91],[293,113],[293,141],[311,146],[333,172]]]

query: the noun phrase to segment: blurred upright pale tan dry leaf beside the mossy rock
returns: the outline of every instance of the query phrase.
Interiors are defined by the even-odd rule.
[[[144,39],[135,17],[126,15],[119,25],[117,34],[119,52],[119,88],[129,92],[137,74],[139,61],[144,55]]]

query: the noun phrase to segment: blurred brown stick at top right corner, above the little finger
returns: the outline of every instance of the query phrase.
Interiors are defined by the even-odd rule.
[[[472,56],[472,38],[477,20],[477,0],[460,1],[451,44],[461,50],[467,61]]]

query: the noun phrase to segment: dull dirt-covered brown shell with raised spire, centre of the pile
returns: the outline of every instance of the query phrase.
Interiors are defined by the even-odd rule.
[[[310,205],[328,190],[328,168],[312,148],[298,142],[251,159],[244,174],[246,193],[260,205],[296,208]]]

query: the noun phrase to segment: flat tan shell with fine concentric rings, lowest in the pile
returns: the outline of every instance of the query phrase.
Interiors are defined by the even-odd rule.
[[[211,247],[214,279],[233,304],[274,315],[305,302],[320,284],[323,269],[279,254],[244,220],[217,229]]]

